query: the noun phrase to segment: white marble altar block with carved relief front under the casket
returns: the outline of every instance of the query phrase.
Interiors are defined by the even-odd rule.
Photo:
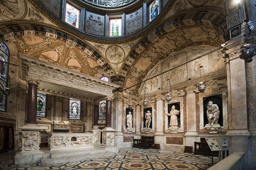
[[[93,148],[93,133],[50,133],[50,150]]]

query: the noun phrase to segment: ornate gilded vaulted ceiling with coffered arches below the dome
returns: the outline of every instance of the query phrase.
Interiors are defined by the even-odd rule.
[[[198,45],[219,47],[227,31],[222,0],[172,1],[148,26],[116,39],[64,27],[37,4],[24,2],[22,19],[13,20],[2,11],[1,42],[7,40],[19,53],[82,74],[108,76],[124,89],[143,81],[151,68],[174,52]],[[134,90],[139,88],[140,84]]]

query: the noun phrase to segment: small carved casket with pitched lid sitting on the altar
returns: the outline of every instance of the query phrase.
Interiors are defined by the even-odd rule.
[[[51,131],[56,133],[71,132],[71,123],[68,121],[52,121]]]

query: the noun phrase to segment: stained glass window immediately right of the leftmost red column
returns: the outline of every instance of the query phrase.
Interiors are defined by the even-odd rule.
[[[46,117],[47,94],[37,94],[36,116]]]

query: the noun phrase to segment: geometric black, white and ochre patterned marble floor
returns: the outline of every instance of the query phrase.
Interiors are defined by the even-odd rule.
[[[14,153],[0,153],[0,170],[206,170],[210,156],[174,150],[125,148],[114,157],[77,161],[52,166],[14,164]],[[214,164],[218,158],[214,157]]]

